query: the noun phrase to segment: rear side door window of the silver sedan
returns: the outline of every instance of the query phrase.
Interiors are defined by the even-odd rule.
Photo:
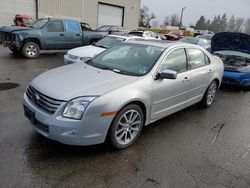
[[[187,50],[191,68],[195,69],[206,65],[205,54],[199,49],[188,49]]]

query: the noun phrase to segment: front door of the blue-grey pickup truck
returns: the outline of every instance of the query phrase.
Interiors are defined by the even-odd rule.
[[[67,49],[67,37],[63,22],[53,20],[43,29],[45,49]]]

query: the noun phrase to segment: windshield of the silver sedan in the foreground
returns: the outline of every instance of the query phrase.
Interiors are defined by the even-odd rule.
[[[152,69],[164,50],[142,44],[120,43],[86,63],[120,74],[143,76]]]

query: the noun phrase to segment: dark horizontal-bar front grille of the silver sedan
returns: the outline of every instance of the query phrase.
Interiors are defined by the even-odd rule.
[[[62,104],[62,100],[53,99],[48,97],[39,91],[37,91],[32,86],[29,86],[26,90],[26,95],[29,99],[36,104],[38,107],[42,108],[46,112],[53,114],[59,106]]]

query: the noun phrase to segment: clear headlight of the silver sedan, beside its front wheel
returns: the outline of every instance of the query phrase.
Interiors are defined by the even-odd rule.
[[[80,120],[87,106],[96,98],[79,97],[68,102],[64,111],[63,117]]]

